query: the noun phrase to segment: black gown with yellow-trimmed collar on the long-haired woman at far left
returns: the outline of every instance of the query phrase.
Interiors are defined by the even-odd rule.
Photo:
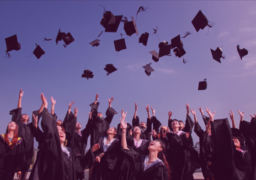
[[[16,145],[11,149],[11,144],[5,142],[5,135],[0,134],[0,180],[13,180],[14,174],[21,171],[24,157],[22,140],[18,138]]]

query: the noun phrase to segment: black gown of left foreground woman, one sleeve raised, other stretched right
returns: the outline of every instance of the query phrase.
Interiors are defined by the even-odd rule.
[[[95,161],[91,149],[81,156],[70,148],[69,157],[63,152],[59,131],[56,126],[56,114],[50,114],[43,109],[41,126],[43,129],[43,143],[37,163],[39,180],[76,180],[75,172],[83,172]]]

